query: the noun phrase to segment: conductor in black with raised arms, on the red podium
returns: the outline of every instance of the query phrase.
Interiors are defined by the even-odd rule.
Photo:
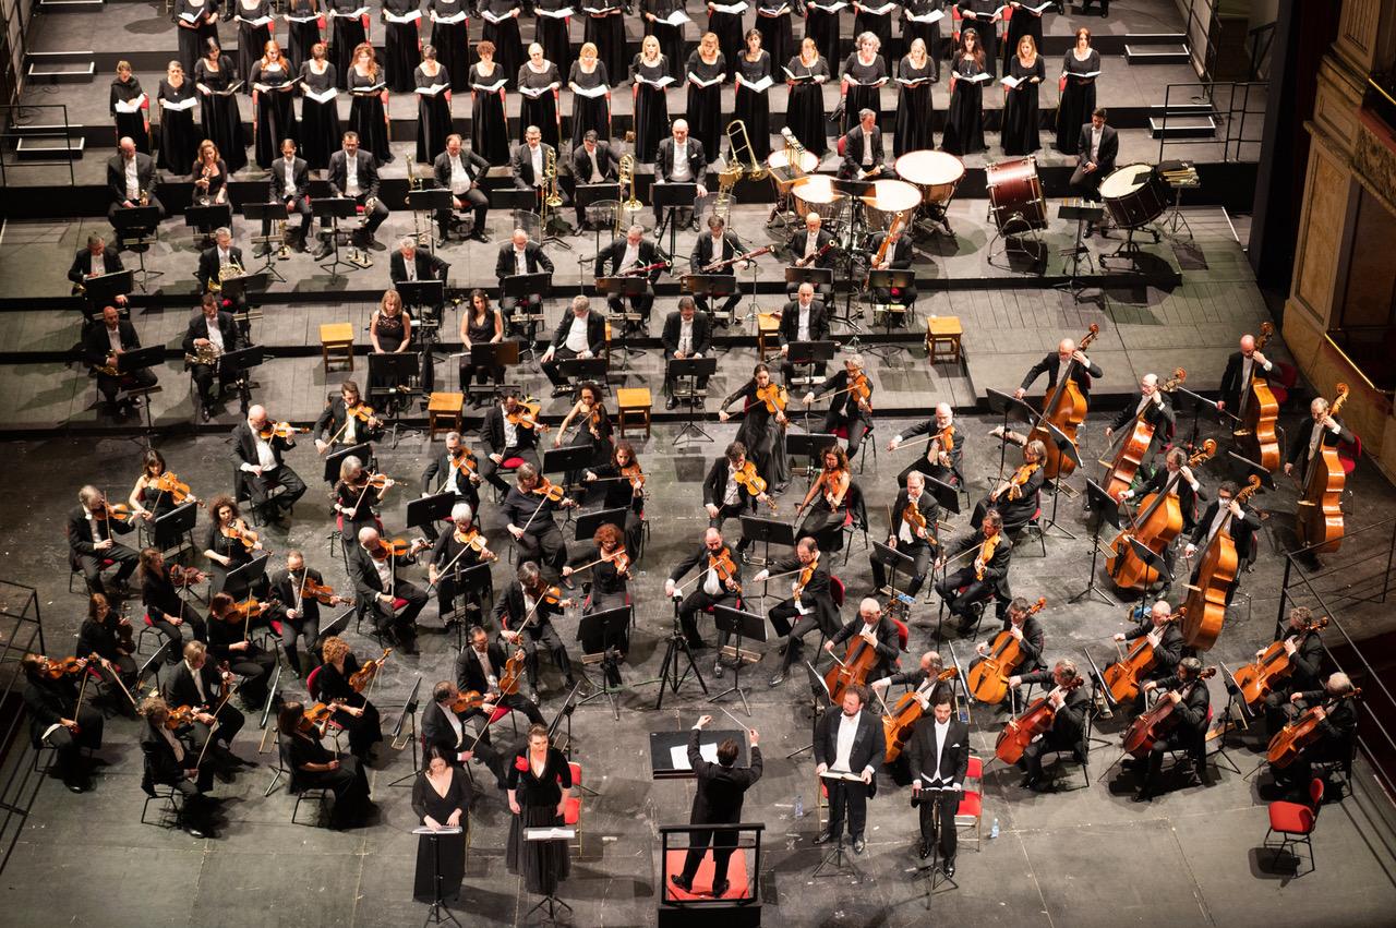
[[[694,770],[698,787],[694,793],[694,804],[688,812],[690,825],[736,825],[741,821],[741,802],[747,790],[761,779],[761,734],[755,728],[747,731],[751,738],[751,765],[737,768],[737,758],[741,755],[741,745],[732,738],[723,740],[718,745],[718,763],[704,761],[698,745],[699,731],[709,723],[712,716],[702,716],[688,733],[688,766]],[[736,832],[690,832],[688,854],[684,858],[681,874],[670,875],[669,881],[684,890],[692,892],[694,876],[708,855],[708,844],[712,844],[712,897],[722,899],[727,892],[727,861],[737,847]]]

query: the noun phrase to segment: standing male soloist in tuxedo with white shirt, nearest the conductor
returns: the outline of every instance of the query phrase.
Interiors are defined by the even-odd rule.
[[[877,772],[886,755],[882,720],[866,712],[868,691],[856,685],[843,691],[839,712],[825,712],[814,726],[814,773],[852,774],[853,780],[826,779],[829,793],[829,825],[814,839],[828,844],[843,837],[843,822],[849,823],[853,853],[867,847],[863,829],[867,823],[868,798],[877,795]]]

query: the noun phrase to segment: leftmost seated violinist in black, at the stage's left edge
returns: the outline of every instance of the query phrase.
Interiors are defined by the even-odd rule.
[[[40,654],[20,659],[24,671],[24,705],[29,716],[29,744],[35,751],[53,748],[54,766],[71,793],[91,788],[82,749],[102,747],[101,710],[78,703],[82,674],[88,661],[73,659],[63,664]]]

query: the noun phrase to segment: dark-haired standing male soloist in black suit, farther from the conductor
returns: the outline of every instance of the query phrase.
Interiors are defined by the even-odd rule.
[[[931,691],[931,714],[923,716],[912,731],[906,766],[912,773],[912,802],[920,808],[920,857],[931,855],[931,841],[940,832],[941,868],[946,876],[953,876],[955,812],[969,773],[969,727],[955,717],[949,684],[938,684]]]

